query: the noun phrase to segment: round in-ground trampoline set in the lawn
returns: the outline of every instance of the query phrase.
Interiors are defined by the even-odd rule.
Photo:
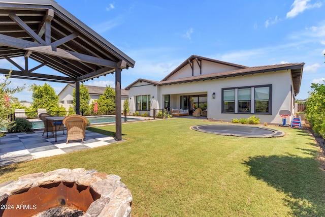
[[[240,136],[252,138],[270,138],[284,136],[284,132],[255,126],[240,125],[197,125],[191,127],[192,130],[213,133],[224,136]]]

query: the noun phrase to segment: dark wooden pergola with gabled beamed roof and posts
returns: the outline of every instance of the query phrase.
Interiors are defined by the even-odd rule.
[[[23,57],[24,66],[14,57]],[[115,73],[116,140],[121,140],[121,71],[135,61],[55,1],[0,1],[0,59],[19,69],[11,78],[75,83],[77,114],[80,82]],[[29,59],[39,65],[30,69]],[[62,76],[34,72],[44,66]],[[9,72],[0,69],[0,74]]]

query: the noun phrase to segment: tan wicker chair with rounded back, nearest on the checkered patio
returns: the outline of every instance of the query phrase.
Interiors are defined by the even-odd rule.
[[[87,119],[79,114],[72,114],[63,119],[67,128],[67,144],[69,140],[79,140],[86,138]]]

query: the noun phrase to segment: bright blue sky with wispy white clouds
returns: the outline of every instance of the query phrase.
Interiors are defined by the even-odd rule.
[[[190,55],[248,67],[304,62],[297,99],[325,80],[324,0],[56,2],[136,61],[122,71],[122,88],[138,78],[160,81]],[[7,65],[0,61],[0,68]],[[114,80],[108,75],[85,84],[114,86]],[[57,94],[65,86],[49,84]],[[14,96],[31,101],[27,89]]]

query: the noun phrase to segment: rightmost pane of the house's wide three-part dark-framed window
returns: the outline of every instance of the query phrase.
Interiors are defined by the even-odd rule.
[[[255,113],[270,113],[270,87],[255,87]]]

